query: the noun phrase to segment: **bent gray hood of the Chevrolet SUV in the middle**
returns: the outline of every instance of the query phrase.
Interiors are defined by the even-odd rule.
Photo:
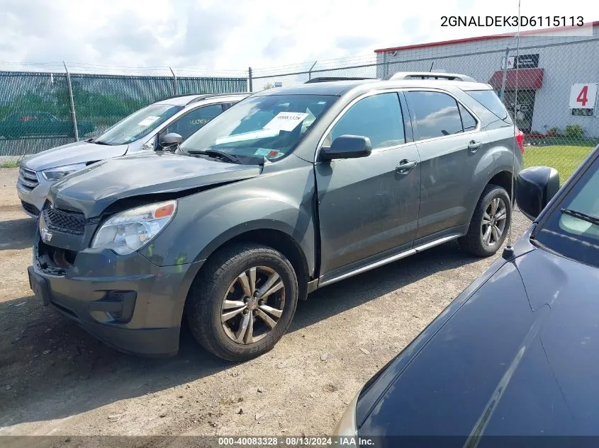
[[[52,185],[56,208],[96,217],[125,197],[173,193],[258,176],[259,166],[170,153],[138,154],[94,163]]]

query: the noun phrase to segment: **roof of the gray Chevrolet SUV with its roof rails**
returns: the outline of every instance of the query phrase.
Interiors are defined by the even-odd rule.
[[[254,93],[255,96],[268,95],[335,95],[352,91],[384,90],[386,88],[459,88],[463,91],[492,90],[489,84],[469,81],[449,81],[444,79],[401,79],[383,81],[380,79],[360,79],[343,81],[325,81],[301,84],[299,86],[269,88]]]

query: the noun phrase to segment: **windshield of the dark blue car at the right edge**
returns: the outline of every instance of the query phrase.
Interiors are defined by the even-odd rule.
[[[551,251],[599,267],[598,192],[599,159],[595,158],[535,239]]]

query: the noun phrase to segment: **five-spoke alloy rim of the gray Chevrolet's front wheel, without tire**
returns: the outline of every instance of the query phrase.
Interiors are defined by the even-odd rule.
[[[237,275],[229,286],[220,308],[220,321],[230,339],[251,344],[273,330],[284,306],[281,276],[267,266],[255,266]]]

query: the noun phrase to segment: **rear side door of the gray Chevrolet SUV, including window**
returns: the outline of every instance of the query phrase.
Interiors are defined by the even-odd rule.
[[[416,244],[464,231],[472,179],[488,147],[478,119],[445,91],[406,91],[421,159]]]

